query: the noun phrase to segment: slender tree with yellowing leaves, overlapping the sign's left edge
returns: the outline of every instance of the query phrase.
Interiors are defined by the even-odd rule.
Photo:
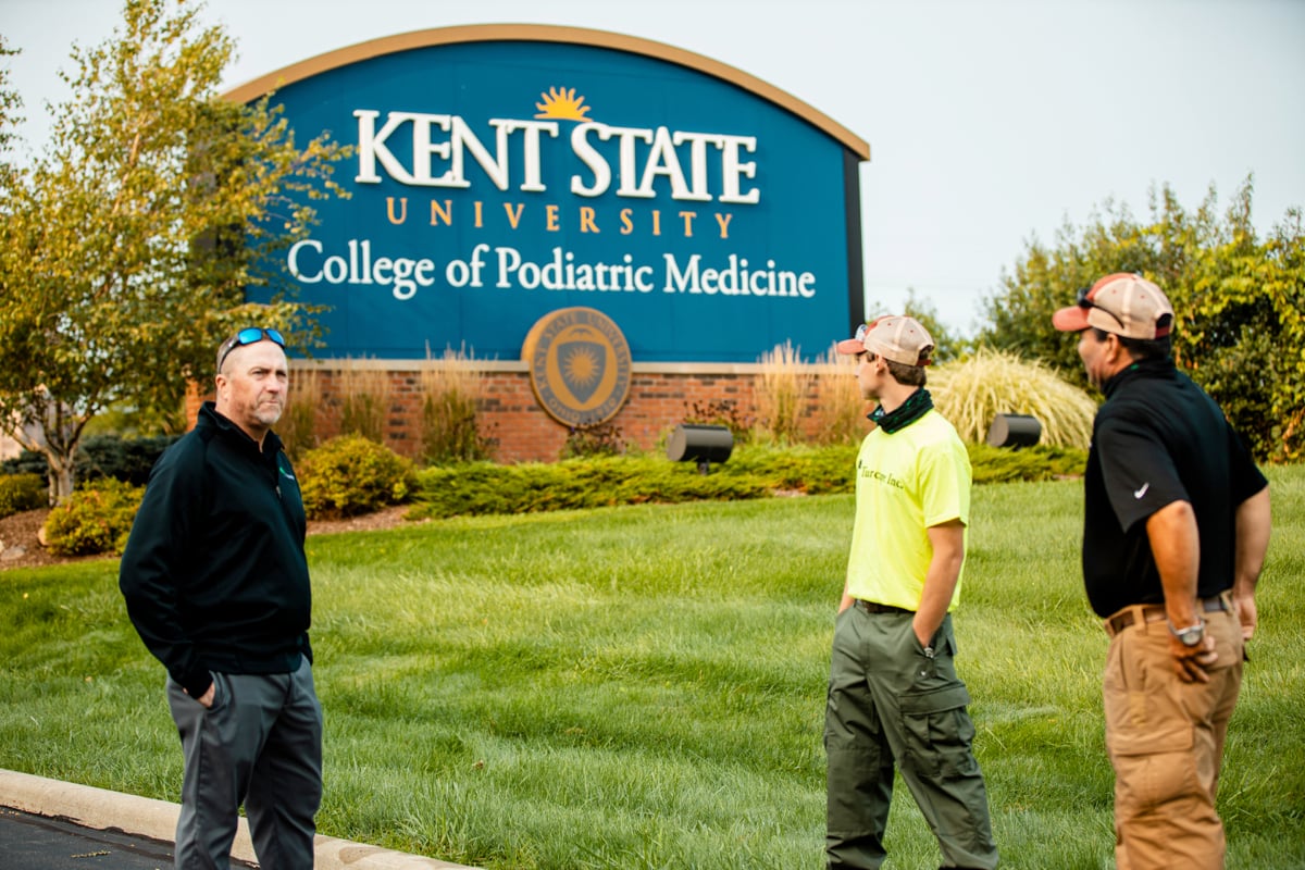
[[[311,309],[251,310],[243,290],[341,193],[347,149],[296,146],[266,98],[221,99],[232,42],[198,10],[127,0],[108,40],[73,50],[50,146],[0,189],[0,428],[44,454],[52,501],[106,407],[175,407],[236,325],[315,334]]]

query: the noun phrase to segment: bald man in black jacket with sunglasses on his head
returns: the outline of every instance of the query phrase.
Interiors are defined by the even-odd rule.
[[[176,867],[227,867],[240,803],[268,870],[313,866],[322,717],[313,690],[304,506],[281,440],[284,339],[218,350],[217,402],[164,453],[119,587],[168,672],[185,772]]]

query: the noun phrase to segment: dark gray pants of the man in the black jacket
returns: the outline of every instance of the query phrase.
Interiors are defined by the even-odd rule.
[[[230,867],[243,802],[258,865],[311,870],[322,794],[322,713],[308,659],[295,673],[214,673],[213,681],[207,710],[167,681],[185,759],[176,869]]]

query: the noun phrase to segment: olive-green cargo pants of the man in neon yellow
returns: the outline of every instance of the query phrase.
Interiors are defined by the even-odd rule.
[[[946,866],[997,866],[983,773],[970,749],[970,694],[957,678],[951,617],[925,656],[910,613],[839,614],[830,660],[826,857],[830,867],[878,867],[894,763],[938,839]]]

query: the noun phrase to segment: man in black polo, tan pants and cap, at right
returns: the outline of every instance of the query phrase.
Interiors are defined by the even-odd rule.
[[[1114,274],[1056,312],[1105,394],[1086,472],[1083,579],[1105,621],[1118,870],[1224,866],[1215,790],[1255,630],[1268,481],[1169,355],[1173,308]]]

